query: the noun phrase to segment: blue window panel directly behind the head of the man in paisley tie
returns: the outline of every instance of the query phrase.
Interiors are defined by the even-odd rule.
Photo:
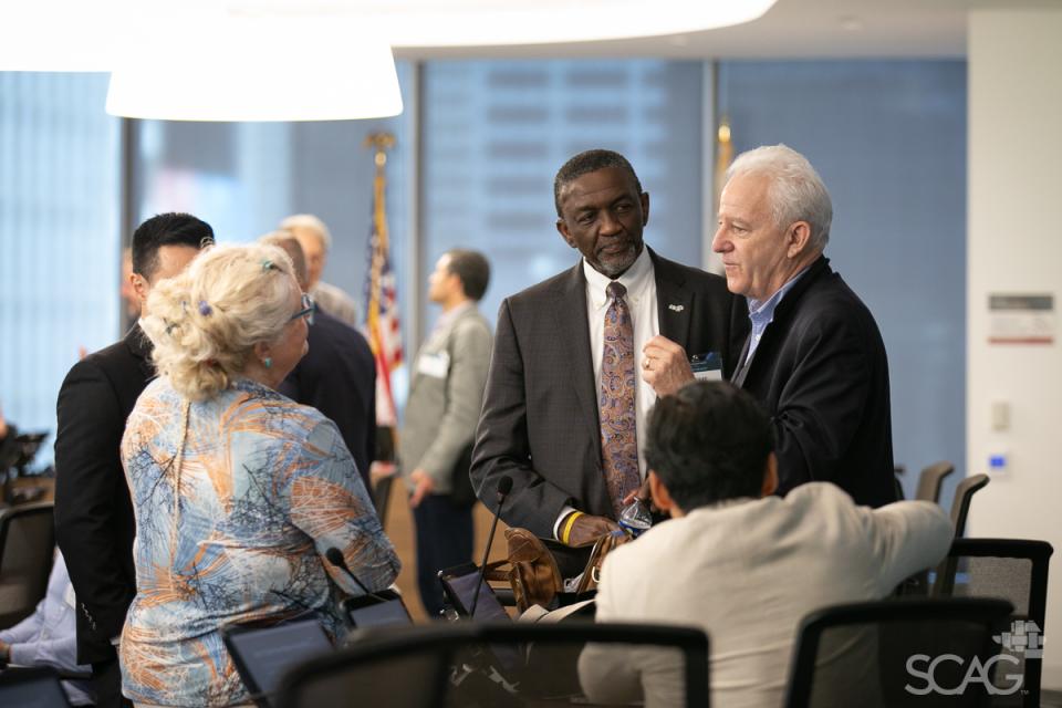
[[[699,263],[701,76],[699,62],[652,60],[425,64],[419,277],[449,248],[483,251],[492,320],[507,295],[571,268],[553,176],[594,147],[623,153],[649,192],[646,242]]]

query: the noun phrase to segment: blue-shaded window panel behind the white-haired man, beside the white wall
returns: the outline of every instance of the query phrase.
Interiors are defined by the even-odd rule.
[[[907,496],[931,462],[965,471],[966,63],[727,62],[719,82],[735,153],[785,143],[830,189],[826,256],[885,339]]]

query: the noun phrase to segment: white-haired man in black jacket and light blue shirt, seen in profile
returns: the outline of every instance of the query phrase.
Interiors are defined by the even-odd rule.
[[[733,382],[772,416],[779,493],[830,481],[881,507],[896,499],[888,362],[874,316],[823,256],[832,218],[815,169],[784,145],[728,170],[712,250],[752,324]]]

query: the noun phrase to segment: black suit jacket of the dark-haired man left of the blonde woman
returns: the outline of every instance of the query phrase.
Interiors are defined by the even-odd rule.
[[[77,596],[77,663],[114,658],[136,594],[133,502],[119,448],[125,419],[154,376],[150,342],[125,339],[74,364],[59,391],[55,538]]]

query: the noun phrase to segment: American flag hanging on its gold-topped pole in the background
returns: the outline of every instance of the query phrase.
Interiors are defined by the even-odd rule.
[[[373,180],[373,226],[368,237],[368,277],[365,281],[365,330],[376,357],[376,425],[394,427],[398,423],[391,373],[402,366],[402,325],[395,271],[391,267],[387,241],[387,209],[384,166],[377,160]]]

